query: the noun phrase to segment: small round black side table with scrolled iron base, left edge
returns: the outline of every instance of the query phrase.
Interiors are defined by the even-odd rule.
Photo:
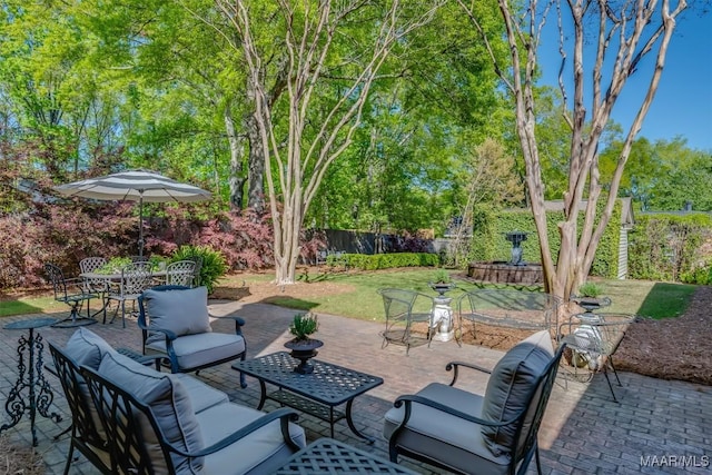
[[[57,413],[50,413],[49,406],[55,399],[50,387],[42,373],[42,336],[34,333],[34,328],[47,327],[57,323],[57,318],[32,318],[28,320],[13,321],[3,328],[9,330],[28,330],[28,336],[20,336],[18,339],[18,380],[10,389],[8,400],[4,403],[4,410],[11,420],[0,427],[0,433],[10,427],[14,427],[22,415],[30,414],[30,429],[32,431],[32,445],[37,447],[37,433],[34,431],[34,418],[39,412],[41,416],[60,422],[62,418]],[[27,353],[28,365],[24,364]],[[27,395],[22,393],[27,389]]]

